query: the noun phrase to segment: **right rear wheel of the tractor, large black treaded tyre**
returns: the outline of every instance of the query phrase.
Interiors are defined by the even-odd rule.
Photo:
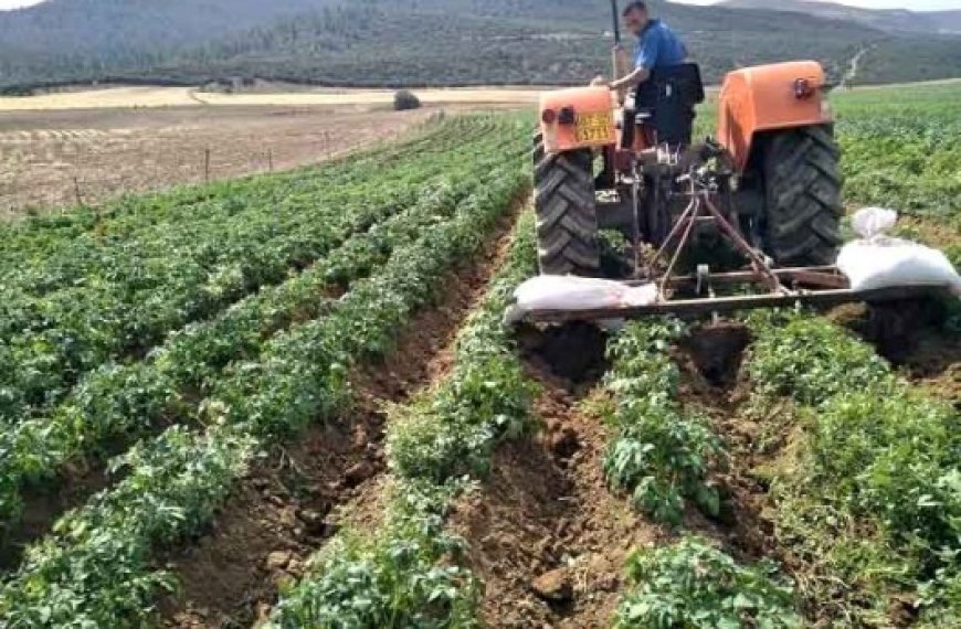
[[[801,127],[770,136],[763,158],[765,252],[779,265],[834,264],[842,202],[833,127]]]

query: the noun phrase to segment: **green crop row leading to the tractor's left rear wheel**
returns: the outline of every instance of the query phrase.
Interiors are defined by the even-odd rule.
[[[501,320],[514,288],[535,271],[534,222],[518,223],[488,294],[456,341],[452,372],[392,418],[393,473],[384,524],[344,534],[284,593],[272,627],[474,627],[477,584],[458,565],[462,542],[445,514],[467,478],[483,478],[494,447],[536,429],[534,385]]]

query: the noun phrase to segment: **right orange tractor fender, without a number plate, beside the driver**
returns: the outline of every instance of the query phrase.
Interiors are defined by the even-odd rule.
[[[815,61],[746,67],[725,77],[718,139],[743,172],[759,134],[833,121],[824,68]]]

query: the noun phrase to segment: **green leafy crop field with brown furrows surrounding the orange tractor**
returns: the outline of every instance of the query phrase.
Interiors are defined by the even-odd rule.
[[[955,264],[959,98],[835,98]],[[0,626],[959,626],[953,305],[506,329],[530,126],[0,225]]]

